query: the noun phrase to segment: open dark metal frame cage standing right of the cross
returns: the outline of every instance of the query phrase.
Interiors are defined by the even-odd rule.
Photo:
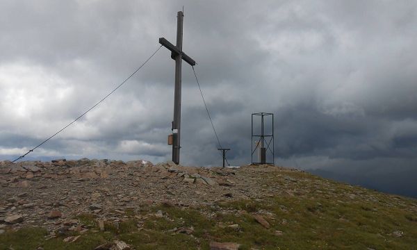
[[[264,117],[271,116],[272,126],[268,134],[265,134]],[[254,118],[261,118],[261,134],[254,133]],[[252,113],[252,164],[272,164],[275,165],[275,142],[274,142],[274,114],[272,113]],[[254,145],[256,142],[256,146]],[[254,161],[254,154],[258,151],[257,161]],[[268,157],[269,155],[269,157]],[[272,162],[267,162],[267,158],[271,158]]]

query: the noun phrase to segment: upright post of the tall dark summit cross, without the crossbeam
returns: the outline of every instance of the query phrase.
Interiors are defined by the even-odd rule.
[[[183,36],[183,12],[177,15],[177,48],[182,51]],[[179,53],[175,57],[175,90],[174,90],[174,122],[172,122],[172,161],[179,164],[180,128],[181,128],[181,63],[182,56]]]

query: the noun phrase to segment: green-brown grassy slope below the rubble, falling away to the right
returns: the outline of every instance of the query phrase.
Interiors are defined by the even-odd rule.
[[[136,249],[208,249],[212,240],[237,242],[241,249],[417,249],[417,201],[372,190],[327,181],[301,172],[286,172],[297,178],[293,191],[260,200],[223,201],[217,206],[178,208],[150,206],[126,211],[117,228],[106,224],[99,232],[94,215],[78,219],[91,229],[65,243],[62,235],[45,240],[42,228],[24,228],[0,235],[0,249],[94,249],[120,239]],[[284,183],[279,176],[265,184]],[[264,185],[265,185],[264,184]],[[303,192],[297,192],[303,190]],[[163,218],[153,216],[157,210]],[[271,228],[254,219],[260,213]],[[238,224],[239,228],[228,227]],[[142,229],[138,230],[138,226]],[[173,228],[194,228],[192,235],[174,233]],[[282,235],[276,235],[282,231]],[[394,231],[403,232],[402,237]]]

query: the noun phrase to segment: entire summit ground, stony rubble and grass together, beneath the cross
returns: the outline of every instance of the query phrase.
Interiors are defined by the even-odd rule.
[[[99,233],[103,235],[92,243],[91,249],[135,249],[135,246],[155,249],[160,244],[152,243],[153,237],[149,236],[152,233],[167,235],[164,242],[178,240],[180,236],[176,235],[188,237],[176,243],[179,248],[164,245],[161,249],[181,249],[181,244],[195,249],[277,249],[279,246],[291,249],[286,246],[297,246],[294,242],[300,233],[297,228],[317,235],[318,239],[299,235],[312,249],[319,245],[338,249],[332,239],[320,239],[325,237],[320,234],[325,230],[320,229],[320,223],[328,227],[336,224],[333,228],[336,233],[351,227],[359,233],[369,233],[362,228],[361,223],[365,223],[377,235],[370,239],[374,236],[383,238],[382,242],[388,239],[384,244],[363,240],[360,242],[360,246],[366,247],[363,249],[411,246],[417,238],[417,231],[409,229],[417,226],[416,200],[272,165],[185,167],[172,162],[154,165],[146,160],[125,163],[87,158],[3,161],[0,162],[0,187],[0,249],[5,247],[2,240],[11,244],[13,233],[25,228],[46,229],[42,233],[45,242],[34,243],[39,245],[38,249],[48,249],[51,240],[74,244],[65,245],[73,247],[69,249],[83,249],[76,244],[81,244],[83,239],[91,242],[86,239]],[[350,207],[359,209],[358,215],[366,213],[370,218],[361,222],[354,216],[355,211],[343,210]],[[389,218],[389,222],[382,219],[379,231],[375,225],[368,224],[368,219],[375,220],[373,216],[378,217],[378,213]],[[184,221],[187,216],[189,222]],[[384,226],[384,223],[392,225]],[[308,224],[314,226],[309,228]],[[128,231],[123,229],[126,225],[131,225]],[[244,237],[250,230],[254,240]],[[143,239],[129,242],[134,238],[133,232],[148,235],[150,242],[145,244]],[[262,235],[270,235],[273,240],[263,242],[259,239]],[[299,249],[304,249],[303,246],[300,244]]]

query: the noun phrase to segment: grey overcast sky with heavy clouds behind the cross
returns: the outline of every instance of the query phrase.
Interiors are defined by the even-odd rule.
[[[416,165],[416,1],[0,2],[0,160],[88,110],[158,47],[195,67],[231,165],[250,163],[251,114],[274,113],[275,163]],[[220,165],[183,63],[181,164]],[[174,60],[161,48],[97,108],[28,156],[170,160]]]

